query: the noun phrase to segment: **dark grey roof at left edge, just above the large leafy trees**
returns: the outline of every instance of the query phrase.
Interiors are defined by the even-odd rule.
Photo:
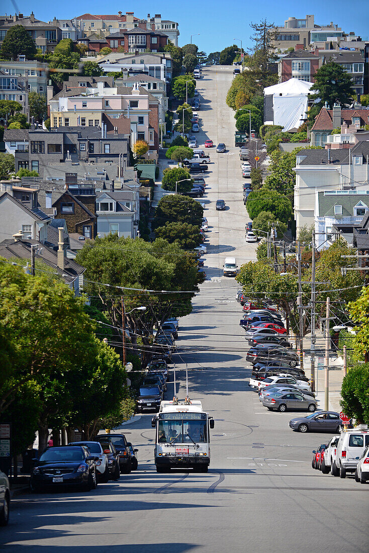
[[[3,240],[3,242],[0,243],[0,255],[6,259],[14,257],[19,259],[30,259],[32,245],[39,246],[35,252],[36,259],[52,267],[56,273],[63,276],[63,279],[67,283],[72,283],[77,276],[83,274],[86,270],[85,267],[82,267],[73,259],[67,257],[64,257],[64,269],[61,270],[58,267],[57,252],[53,248],[49,248],[37,240],[27,240],[27,242],[23,240],[14,241],[14,239]]]

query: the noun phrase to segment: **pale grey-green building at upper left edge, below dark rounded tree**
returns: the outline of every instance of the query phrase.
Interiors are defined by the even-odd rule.
[[[26,60],[24,55],[20,55],[15,61],[0,60],[0,71],[12,79],[18,79],[18,84],[22,83],[23,88],[28,92],[37,92],[45,96],[48,85],[48,69],[49,64],[37,60]],[[22,104],[22,101],[19,103]]]

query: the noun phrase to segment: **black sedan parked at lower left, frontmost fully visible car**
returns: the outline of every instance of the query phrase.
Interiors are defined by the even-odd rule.
[[[48,447],[34,462],[30,489],[37,493],[48,487],[77,486],[89,492],[96,488],[96,461],[84,446]]]

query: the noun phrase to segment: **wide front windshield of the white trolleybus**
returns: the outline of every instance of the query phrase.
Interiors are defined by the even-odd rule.
[[[159,444],[185,444],[207,442],[206,419],[159,420]]]

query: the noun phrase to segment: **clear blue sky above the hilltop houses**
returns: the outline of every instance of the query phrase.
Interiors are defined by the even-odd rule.
[[[269,22],[283,25],[288,17],[304,18],[314,14],[315,23],[337,24],[345,32],[354,31],[362,37],[369,34],[369,2],[367,0],[310,0],[304,6],[293,0],[264,0],[264,2],[243,3],[241,0],[131,0],[131,2],[101,2],[89,0],[79,2],[64,0],[50,2],[50,0],[2,0],[2,13],[17,11],[28,15],[30,9],[35,17],[44,21],[53,19],[70,19],[83,13],[123,13],[134,11],[137,17],[145,18],[150,13],[161,13],[163,19],[170,19],[179,23],[179,45],[190,42],[198,44],[200,50],[207,54],[222,50],[233,44],[233,38],[242,39],[244,48],[250,46],[250,22],[258,22],[267,18]],[[102,7],[103,6],[103,7]]]

